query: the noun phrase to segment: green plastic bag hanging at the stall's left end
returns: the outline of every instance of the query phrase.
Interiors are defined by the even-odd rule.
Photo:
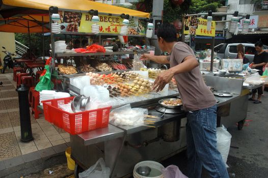
[[[41,92],[43,90],[52,90],[54,87],[53,83],[51,83],[51,74],[48,65],[45,65],[45,70],[45,75],[40,77],[40,81],[35,86],[35,90],[38,92]]]

